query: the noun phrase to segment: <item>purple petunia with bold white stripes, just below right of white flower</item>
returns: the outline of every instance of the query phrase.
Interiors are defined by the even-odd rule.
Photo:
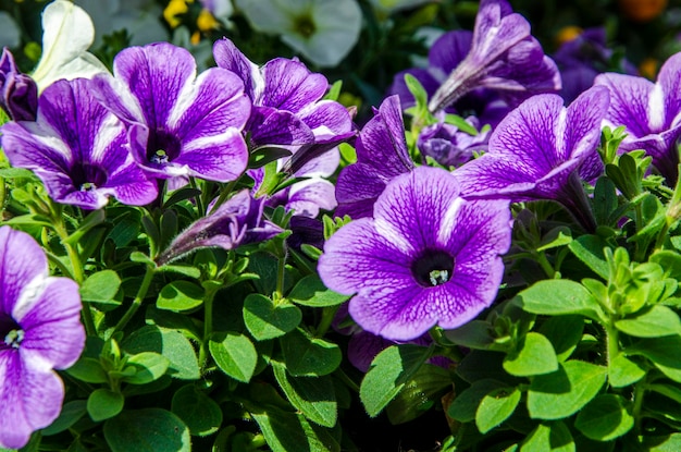
[[[145,171],[176,178],[174,186],[188,176],[228,182],[244,172],[250,102],[239,77],[221,68],[197,76],[191,53],[166,42],[122,50],[113,73],[95,78],[98,96],[132,125],[133,155]]]

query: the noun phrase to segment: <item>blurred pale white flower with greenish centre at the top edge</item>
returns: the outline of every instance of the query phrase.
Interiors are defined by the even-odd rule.
[[[362,12],[356,0],[236,0],[251,26],[320,66],[334,66],[357,44]]]

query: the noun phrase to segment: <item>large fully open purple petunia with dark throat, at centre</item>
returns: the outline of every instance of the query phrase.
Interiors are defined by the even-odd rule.
[[[492,304],[509,224],[507,200],[466,200],[454,175],[419,167],[387,184],[373,218],[326,241],[319,273],[329,289],[355,294],[349,313],[362,329],[412,340],[434,325],[466,323]]]

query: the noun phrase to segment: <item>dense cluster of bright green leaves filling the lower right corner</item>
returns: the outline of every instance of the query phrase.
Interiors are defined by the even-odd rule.
[[[457,361],[443,450],[680,447],[680,188],[643,152],[618,157],[621,138],[604,131],[596,233],[544,203],[519,210],[505,301],[430,349],[382,352],[360,389],[370,415],[436,404],[451,380],[423,363],[443,354]]]

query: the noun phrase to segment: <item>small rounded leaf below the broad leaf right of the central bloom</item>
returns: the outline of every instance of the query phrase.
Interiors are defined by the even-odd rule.
[[[519,350],[504,358],[504,369],[516,377],[549,374],[558,369],[558,358],[550,341],[537,332],[529,332]]]

